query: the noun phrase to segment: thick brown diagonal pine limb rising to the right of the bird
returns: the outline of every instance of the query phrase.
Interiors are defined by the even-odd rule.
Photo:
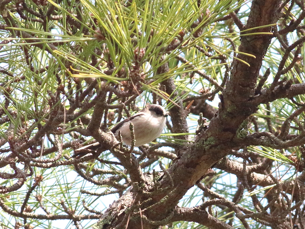
[[[280,4],[281,1],[278,0],[253,1],[246,28],[276,22]],[[254,18],[260,20],[254,20]],[[271,27],[256,31],[270,32]],[[244,103],[255,94],[258,73],[270,42],[271,37],[267,35],[251,35],[241,38],[239,51],[251,53],[256,56],[256,59],[238,54],[237,57],[248,62],[250,66],[234,60],[231,78],[223,92],[224,96],[218,115],[212,118],[206,132],[199,134],[198,140],[187,149],[185,154],[181,155],[181,159],[170,167],[168,173],[164,174],[159,182],[160,188],[169,187],[171,180],[174,182],[173,193],[169,194],[170,199],[159,202],[165,193],[153,197],[154,202],[159,203],[152,209],[153,212],[158,212],[159,216],[160,213],[163,216],[166,215],[169,209],[174,208],[179,199],[204,175],[207,169],[228,153],[228,149],[239,148],[231,140],[243,120],[257,109],[256,107],[245,109]],[[153,212],[149,216],[158,217]]]

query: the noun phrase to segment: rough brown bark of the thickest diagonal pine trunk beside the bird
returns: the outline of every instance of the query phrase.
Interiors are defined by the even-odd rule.
[[[278,0],[253,1],[245,29],[276,23],[281,3],[282,1]],[[271,31],[271,26],[268,26],[242,34]],[[237,131],[246,118],[257,110],[258,104],[249,103],[249,100],[255,95],[260,67],[271,38],[271,35],[241,37],[239,51],[252,54],[256,58],[244,54],[237,55],[249,66],[239,60],[234,60],[230,79],[222,93],[219,110],[211,119],[206,131],[202,131],[197,136],[196,141],[159,178],[151,190],[145,190],[151,194],[149,199],[147,199],[147,195],[135,191],[133,207],[137,208],[135,205],[140,203],[138,209],[141,208],[142,215],[148,219],[142,222],[143,228],[156,228],[158,225],[164,225],[165,221],[171,222],[173,220],[171,213],[188,189],[195,185],[212,165],[226,156],[229,150],[240,149],[241,145],[236,140]],[[177,123],[176,126],[174,123],[173,129],[179,128],[179,125],[181,122]],[[212,224],[209,219],[201,223],[215,229],[228,228]],[[114,227],[114,225],[109,225],[109,227],[104,228]],[[141,227],[139,216],[133,218],[131,214],[127,228]]]

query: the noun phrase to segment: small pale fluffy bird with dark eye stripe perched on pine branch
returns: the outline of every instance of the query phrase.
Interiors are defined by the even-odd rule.
[[[147,105],[142,111],[115,125],[111,131],[116,138],[118,137],[119,131],[121,131],[124,144],[130,146],[132,137],[129,125],[132,122],[135,131],[135,147],[142,146],[160,136],[164,129],[167,116],[168,115],[162,106],[158,104]],[[99,142],[95,142],[78,148],[76,151],[83,149],[96,150],[99,147],[101,147]],[[72,158],[80,158],[82,156],[84,155],[81,152],[75,152]]]

